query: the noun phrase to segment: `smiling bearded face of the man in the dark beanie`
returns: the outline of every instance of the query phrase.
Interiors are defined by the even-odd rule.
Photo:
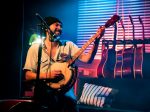
[[[50,30],[55,34],[55,36],[60,36],[62,33],[62,24],[55,22],[50,25]]]

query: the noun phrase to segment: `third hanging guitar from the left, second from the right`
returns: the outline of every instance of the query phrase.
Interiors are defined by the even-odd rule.
[[[133,41],[134,41],[134,24],[131,16],[129,15],[131,24],[132,24],[132,32],[133,32]],[[134,60],[134,48],[133,46],[130,48],[125,48],[123,52],[123,66],[122,66],[122,77],[123,78],[133,78],[133,60]]]

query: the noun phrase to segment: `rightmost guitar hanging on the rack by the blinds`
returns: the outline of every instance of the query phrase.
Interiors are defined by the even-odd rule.
[[[142,25],[142,31],[143,31],[143,40],[144,40],[144,26],[143,22],[139,16],[139,21],[140,24]],[[135,46],[134,48],[134,78],[143,78],[143,73],[142,73],[142,65],[143,65],[143,52],[145,48],[145,44],[143,44],[140,47]]]

